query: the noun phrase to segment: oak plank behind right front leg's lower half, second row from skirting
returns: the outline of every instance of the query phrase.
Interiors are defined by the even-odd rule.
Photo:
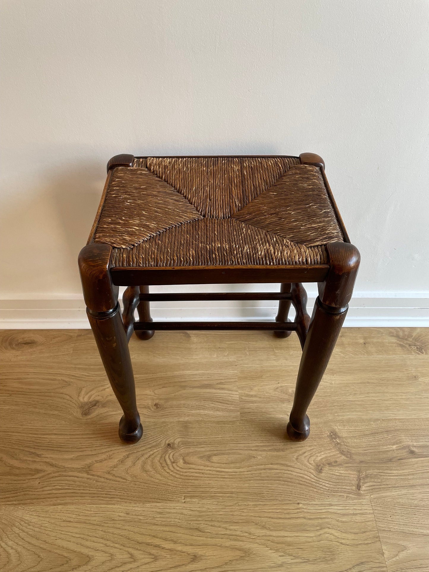
[[[248,363],[238,373],[241,418],[256,411],[280,415],[295,392],[297,364]],[[340,417],[390,419],[429,418],[429,356],[366,356],[344,360],[333,355],[308,415],[321,411]]]

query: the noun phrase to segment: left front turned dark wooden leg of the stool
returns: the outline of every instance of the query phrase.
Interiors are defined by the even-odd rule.
[[[79,255],[86,312],[97,342],[106,374],[124,415],[119,436],[126,443],[136,443],[143,434],[137,411],[133,367],[121,310],[118,288],[110,278],[108,244],[88,244]]]

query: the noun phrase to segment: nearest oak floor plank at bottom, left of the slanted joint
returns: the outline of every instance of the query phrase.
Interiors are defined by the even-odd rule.
[[[3,572],[386,572],[369,501],[15,507],[0,522]]]

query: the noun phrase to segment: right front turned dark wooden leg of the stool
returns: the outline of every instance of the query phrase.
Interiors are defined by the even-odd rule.
[[[287,426],[289,437],[298,441],[309,435],[307,408],[335,347],[359,268],[359,252],[353,245],[331,243],[327,245],[327,251],[330,268],[325,282],[319,284],[319,297],[305,339]]]

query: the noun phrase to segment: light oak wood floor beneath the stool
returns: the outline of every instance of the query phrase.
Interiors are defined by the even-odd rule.
[[[0,332],[2,572],[429,570],[429,329],[343,329],[303,443],[295,335],[130,351],[126,446],[90,331]]]

